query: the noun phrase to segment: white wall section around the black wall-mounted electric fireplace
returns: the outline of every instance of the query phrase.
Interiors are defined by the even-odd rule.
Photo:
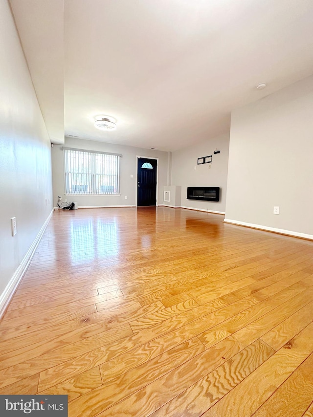
[[[217,136],[172,154],[172,185],[181,185],[181,206],[225,212],[229,135]],[[214,155],[218,149],[221,153]],[[198,158],[212,155],[212,163],[197,165]],[[187,187],[220,187],[220,201],[187,200]]]

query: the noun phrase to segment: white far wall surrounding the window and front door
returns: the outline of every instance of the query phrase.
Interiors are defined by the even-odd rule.
[[[152,149],[134,148],[132,146],[115,145],[112,143],[96,142],[66,137],[65,146],[91,151],[110,152],[122,154],[121,158],[121,196],[66,196],[64,181],[64,160],[62,146],[54,145],[52,148],[53,196],[54,205],[57,206],[58,196],[63,201],[77,201],[78,207],[92,206],[123,206],[136,204],[136,155],[158,158],[158,204],[163,202],[163,186],[167,184],[168,153]],[[133,175],[133,178],[131,178]],[[127,199],[125,199],[127,196]]]

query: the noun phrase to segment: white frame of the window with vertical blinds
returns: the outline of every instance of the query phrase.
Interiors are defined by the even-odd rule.
[[[111,152],[101,152],[101,151],[93,151],[93,150],[89,150],[89,149],[77,149],[77,148],[68,148],[68,147],[62,147],[61,150],[63,151],[63,172],[64,172],[64,189],[65,189],[65,195],[66,196],[107,196],[107,197],[116,197],[116,196],[121,196],[121,154],[114,154]],[[91,172],[88,173],[88,175],[91,176],[91,180],[90,180],[90,184],[91,184],[91,193],[70,193],[69,192],[69,183],[68,183],[68,172],[67,172],[67,155],[64,151],[77,151],[77,152],[85,152],[87,154],[91,154]],[[95,159],[96,159],[96,155],[97,154],[104,154],[104,155],[113,155],[113,156],[117,156],[117,193],[96,193],[96,180],[95,177],[97,175],[99,175],[96,172],[95,169]]]

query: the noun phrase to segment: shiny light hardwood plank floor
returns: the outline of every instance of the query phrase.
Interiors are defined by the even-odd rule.
[[[57,211],[0,323],[0,394],[70,417],[313,416],[313,242],[166,207]]]

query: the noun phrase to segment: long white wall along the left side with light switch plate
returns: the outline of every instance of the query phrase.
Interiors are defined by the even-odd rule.
[[[1,310],[53,206],[50,141],[7,0],[0,0],[0,39]],[[17,220],[14,237],[12,217]]]

